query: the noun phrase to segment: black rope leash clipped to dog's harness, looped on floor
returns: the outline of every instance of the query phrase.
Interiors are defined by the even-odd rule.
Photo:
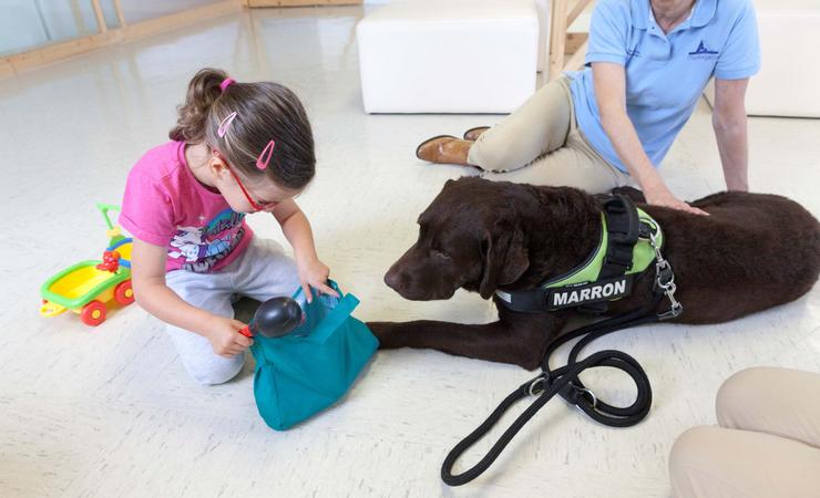
[[[629,427],[639,423],[648,415],[652,406],[652,386],[646,372],[644,372],[644,369],[634,357],[615,350],[598,351],[581,361],[577,360],[577,356],[581,350],[602,335],[626,328],[676,318],[683,312],[683,307],[674,297],[676,288],[672,267],[660,255],[659,249],[655,245],[654,236],[649,237],[656,252],[655,286],[653,298],[649,300],[650,302],[636,310],[587,326],[582,326],[554,339],[547,345],[544,359],[542,360],[542,373],[535,378],[521,384],[519,388],[510,393],[475,430],[450,450],[441,466],[441,479],[444,484],[449,486],[461,486],[483,474],[530,418],[556,394],[577,406],[592,419],[611,427]],[[669,299],[670,309],[664,313],[655,313],[654,310],[664,295]],[[570,351],[567,364],[560,369],[551,370],[550,356],[552,353],[562,344],[578,336],[583,338]],[[637,387],[637,396],[632,405],[626,407],[612,406],[597,400],[593,392],[584,386],[578,375],[587,369],[598,366],[618,369],[632,377]],[[461,474],[454,475],[452,468],[455,465],[455,460],[475,444],[475,442],[484,437],[513,404],[527,395],[537,395],[539,397],[504,430],[501,437],[499,437],[499,440],[495,442],[492,448],[490,448],[490,452],[478,464]]]

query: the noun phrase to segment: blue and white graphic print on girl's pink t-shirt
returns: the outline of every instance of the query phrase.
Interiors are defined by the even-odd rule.
[[[245,214],[227,208],[205,226],[176,227],[176,235],[171,239],[174,249],[168,251],[168,256],[185,258],[183,270],[205,273],[242,241],[244,219]]]

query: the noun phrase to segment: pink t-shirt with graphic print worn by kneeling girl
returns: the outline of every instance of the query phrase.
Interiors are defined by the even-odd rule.
[[[125,184],[120,225],[140,240],[167,247],[166,271],[217,271],[254,235],[244,214],[194,177],[182,142],[154,147],[136,162]]]

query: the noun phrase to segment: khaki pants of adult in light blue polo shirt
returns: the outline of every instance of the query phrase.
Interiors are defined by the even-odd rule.
[[[591,194],[633,185],[586,142],[575,121],[570,80],[562,76],[488,129],[470,147],[468,163],[492,180],[570,186]]]

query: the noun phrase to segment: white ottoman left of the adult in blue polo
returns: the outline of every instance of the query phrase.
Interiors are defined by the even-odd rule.
[[[509,113],[535,91],[532,0],[393,1],[356,35],[368,113]]]

